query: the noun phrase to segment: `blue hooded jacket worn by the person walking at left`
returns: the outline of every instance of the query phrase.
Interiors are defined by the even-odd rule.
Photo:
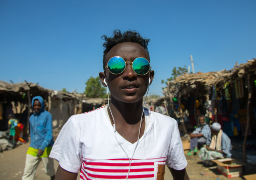
[[[35,96],[32,99],[32,108],[35,99],[38,99],[41,103],[41,111],[40,113],[32,114],[29,118],[31,134],[30,147],[44,150],[45,147],[51,147],[53,145],[52,116],[44,110],[44,101],[41,96]]]

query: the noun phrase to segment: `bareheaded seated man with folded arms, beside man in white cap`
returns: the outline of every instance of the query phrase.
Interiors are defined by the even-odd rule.
[[[198,117],[199,126],[195,131],[189,134],[190,136],[190,151],[187,152],[187,155],[193,155],[194,152],[198,151],[198,143],[210,145],[211,143],[211,128],[206,122],[204,115]]]

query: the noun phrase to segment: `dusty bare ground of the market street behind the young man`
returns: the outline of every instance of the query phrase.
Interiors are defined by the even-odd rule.
[[[0,179],[4,180],[17,180],[21,179],[26,159],[26,152],[29,143],[22,144],[12,150],[0,153]],[[230,179],[217,172],[216,169],[209,169],[203,166],[198,156],[186,156],[188,166],[186,167],[187,173],[191,180],[196,179]],[[54,160],[55,170],[57,169],[58,162]],[[44,166],[39,164],[35,179],[48,180],[50,179],[44,172]],[[79,178],[78,178],[79,179]],[[168,168],[165,171],[165,180],[171,180],[172,176]],[[232,180],[242,179],[241,177],[232,178]]]

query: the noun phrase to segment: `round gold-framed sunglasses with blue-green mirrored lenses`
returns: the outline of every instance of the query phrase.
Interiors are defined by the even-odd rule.
[[[121,74],[125,70],[126,63],[132,63],[134,72],[141,76],[146,75],[151,69],[150,63],[146,58],[136,58],[133,62],[126,62],[120,56],[110,58],[106,67],[110,73],[117,75]]]

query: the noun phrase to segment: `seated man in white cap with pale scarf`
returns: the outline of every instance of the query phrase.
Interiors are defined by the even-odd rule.
[[[205,164],[210,164],[212,159],[231,157],[231,149],[230,138],[221,130],[221,125],[215,122],[212,125],[212,142],[210,147],[202,147],[198,156]]]

